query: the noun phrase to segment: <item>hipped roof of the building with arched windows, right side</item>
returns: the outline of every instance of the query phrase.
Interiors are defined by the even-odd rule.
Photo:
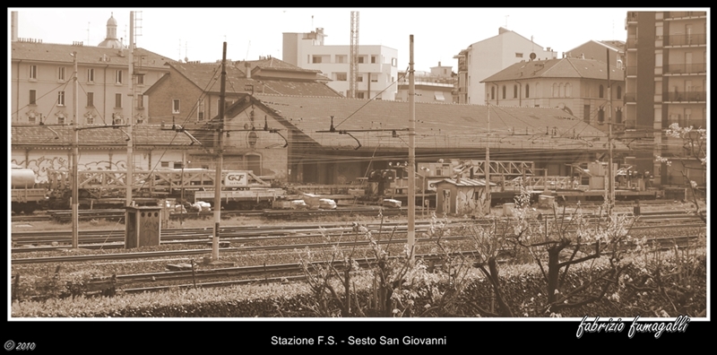
[[[621,78],[622,70],[610,65],[610,77]],[[595,59],[561,58],[533,60],[510,65],[480,82],[502,82],[533,78],[583,78],[608,80],[607,65]]]

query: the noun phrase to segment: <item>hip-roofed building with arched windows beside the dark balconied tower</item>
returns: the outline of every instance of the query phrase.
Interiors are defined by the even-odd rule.
[[[566,57],[532,60],[510,65],[483,80],[491,105],[560,108],[585,123],[609,131],[609,106],[613,130],[623,126],[625,74],[610,66],[612,100],[608,97],[608,65],[594,59]]]

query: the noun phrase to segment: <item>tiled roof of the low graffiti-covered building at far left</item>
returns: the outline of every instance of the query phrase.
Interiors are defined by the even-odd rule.
[[[99,127],[99,126],[98,126]],[[84,129],[79,133],[80,145],[127,144],[126,127],[123,129]],[[193,141],[187,134],[162,129],[160,125],[136,125],[132,136],[134,145],[190,145]],[[12,126],[12,145],[63,146],[73,143],[73,126]]]

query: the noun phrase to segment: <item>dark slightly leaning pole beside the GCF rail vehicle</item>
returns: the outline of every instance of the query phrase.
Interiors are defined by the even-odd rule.
[[[224,135],[224,99],[227,81],[227,42],[221,51],[221,83],[219,93],[219,126],[217,127],[217,168],[214,173],[214,238],[212,238],[212,262],[219,261],[219,226],[221,221],[221,169],[224,165],[221,138]]]

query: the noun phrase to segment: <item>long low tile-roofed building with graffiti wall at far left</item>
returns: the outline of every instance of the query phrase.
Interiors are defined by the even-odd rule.
[[[126,169],[127,139],[134,143],[136,169],[172,168],[200,143],[192,134],[171,128],[135,125],[132,134],[126,127],[82,129],[78,133],[78,169]],[[39,182],[47,181],[48,169],[70,169],[73,140],[73,126],[12,126],[11,162],[33,169]]]

